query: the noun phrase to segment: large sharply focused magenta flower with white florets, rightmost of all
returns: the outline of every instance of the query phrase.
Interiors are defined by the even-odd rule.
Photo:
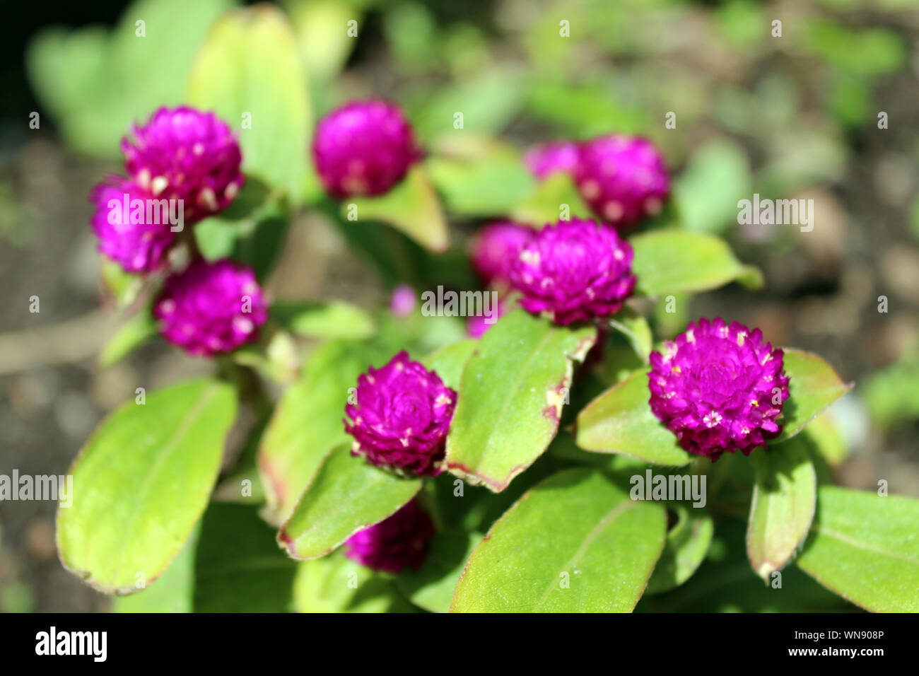
[[[789,378],[762,331],[703,318],[664,346],[651,354],[651,410],[684,450],[714,462],[777,437]]]

